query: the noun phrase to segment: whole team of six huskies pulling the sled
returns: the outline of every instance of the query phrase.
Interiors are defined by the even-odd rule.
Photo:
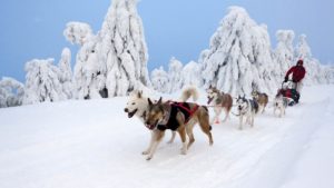
[[[215,87],[209,87],[207,90],[207,106],[198,105],[195,102],[187,102],[193,97],[196,101],[198,98],[198,91],[195,87],[188,87],[183,90],[179,101],[163,101],[147,98],[141,91],[134,91],[130,93],[127,101],[125,112],[128,118],[136,116],[141,122],[150,130],[151,137],[147,149],[143,151],[143,155],[147,155],[147,160],[150,160],[159,144],[161,142],[165,131],[170,130],[171,138],[168,141],[171,144],[176,133],[179,135],[183,142],[181,155],[186,155],[187,150],[194,144],[195,138],[193,129],[195,125],[199,125],[202,131],[208,137],[208,142],[212,146],[214,144],[212,135],[212,123],[220,123],[220,113],[225,112],[226,121],[229,118],[229,113],[233,106],[236,106],[237,116],[239,118],[239,129],[243,129],[244,123],[248,123],[254,127],[254,118],[258,112],[264,112],[268,103],[268,96],[259,92],[256,87],[253,87],[252,99],[247,99],[245,96],[238,96],[235,98],[233,105],[233,97],[229,93],[224,93]],[[278,111],[278,117],[285,115],[285,108],[287,107],[288,99],[279,95],[274,99],[274,115]],[[210,122],[208,108],[213,108],[215,116]],[[187,142],[188,137],[188,142]]]

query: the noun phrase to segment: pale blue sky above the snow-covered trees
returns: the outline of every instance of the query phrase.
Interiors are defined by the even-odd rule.
[[[1,0],[0,77],[24,80],[24,63],[33,58],[55,58],[75,46],[62,36],[69,21],[101,27],[110,0]],[[333,0],[141,0],[149,52],[148,68],[167,67],[170,57],[197,61],[229,6],[244,7],[257,23],[266,23],[275,48],[275,32],[292,29],[305,33],[313,56],[323,63],[334,61]],[[73,58],[75,59],[75,58]],[[75,62],[72,62],[75,63]]]

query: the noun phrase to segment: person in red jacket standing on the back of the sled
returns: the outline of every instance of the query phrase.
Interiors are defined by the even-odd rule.
[[[297,65],[292,67],[285,75],[284,82],[288,80],[289,75],[292,73],[292,81],[295,83],[296,90],[301,93],[303,87],[303,78],[305,77],[306,70],[303,67],[303,60],[299,59]]]

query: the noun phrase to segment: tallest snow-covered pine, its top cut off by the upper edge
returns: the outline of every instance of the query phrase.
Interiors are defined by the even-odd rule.
[[[137,0],[114,0],[101,29],[101,58],[107,66],[110,96],[150,86],[147,47]]]

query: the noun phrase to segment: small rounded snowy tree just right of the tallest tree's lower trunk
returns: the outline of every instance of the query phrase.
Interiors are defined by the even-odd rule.
[[[163,93],[169,92],[169,77],[163,67],[160,67],[159,69],[154,69],[151,71],[150,80],[154,90]]]

